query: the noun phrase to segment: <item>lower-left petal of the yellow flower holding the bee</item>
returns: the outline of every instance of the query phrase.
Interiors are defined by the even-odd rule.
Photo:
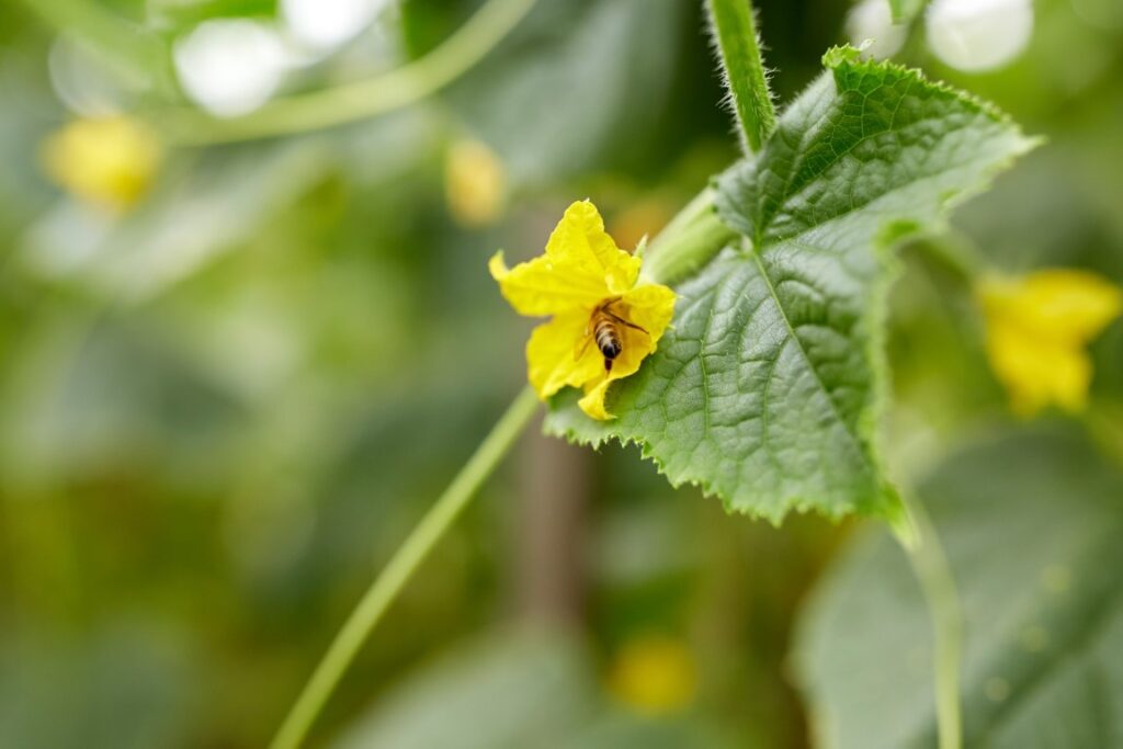
[[[566,385],[579,387],[604,374],[604,358],[588,335],[588,313],[558,314],[527,341],[527,377],[546,400]]]

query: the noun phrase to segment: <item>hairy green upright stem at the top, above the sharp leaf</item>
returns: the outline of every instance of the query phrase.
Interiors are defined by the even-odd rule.
[[[776,129],[776,107],[760,56],[752,3],[707,0],[706,9],[721,53],[725,88],[740,125],[741,145],[746,153],[755,153]]]

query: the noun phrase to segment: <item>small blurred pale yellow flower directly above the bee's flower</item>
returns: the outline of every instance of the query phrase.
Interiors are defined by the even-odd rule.
[[[445,198],[463,226],[494,223],[506,205],[503,162],[478,140],[454,143],[445,159]]]

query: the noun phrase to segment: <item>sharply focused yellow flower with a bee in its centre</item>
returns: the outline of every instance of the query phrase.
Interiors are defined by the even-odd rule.
[[[527,374],[539,398],[583,387],[581,409],[594,419],[612,418],[604,410],[609,384],[639,369],[675,308],[670,289],[636,285],[640,263],[617,247],[587,200],[566,210],[541,257],[509,270],[503,253],[495,253],[489,268],[511,307],[520,314],[553,316],[527,344]],[[597,329],[604,335],[594,340]]]

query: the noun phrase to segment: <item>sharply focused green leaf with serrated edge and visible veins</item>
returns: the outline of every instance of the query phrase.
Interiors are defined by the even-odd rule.
[[[880,252],[1031,147],[989,107],[852,48],[719,181],[745,239],[677,289],[674,327],[597,423],[556,399],[547,429],[638,442],[673,484],[778,522],[791,509],[900,520],[875,447],[885,390]]]

